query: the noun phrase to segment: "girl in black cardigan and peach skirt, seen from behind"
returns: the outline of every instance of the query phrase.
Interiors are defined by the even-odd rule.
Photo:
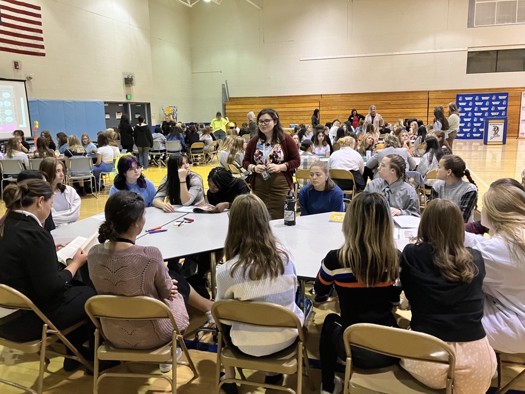
[[[403,251],[401,283],[411,303],[411,329],[447,342],[456,352],[454,392],[485,394],[496,371],[496,354],[481,324],[485,265],[479,251],[463,246],[464,239],[458,206],[431,201],[416,243]],[[446,387],[447,365],[402,359],[401,366],[433,389]]]

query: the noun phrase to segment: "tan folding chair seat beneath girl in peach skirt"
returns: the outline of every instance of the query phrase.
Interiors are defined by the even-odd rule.
[[[403,393],[403,394],[445,394],[446,390],[433,390],[415,380],[412,375],[393,365],[381,369],[354,368],[350,379],[350,392],[353,393]]]

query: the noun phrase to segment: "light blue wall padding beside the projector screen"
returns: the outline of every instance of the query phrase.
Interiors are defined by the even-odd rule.
[[[29,100],[29,118],[31,125],[38,121],[38,133],[49,130],[54,139],[61,131],[97,140],[97,132],[106,130],[103,101]]]

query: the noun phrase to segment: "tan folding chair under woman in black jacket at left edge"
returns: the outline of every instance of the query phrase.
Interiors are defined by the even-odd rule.
[[[49,355],[66,357],[80,361],[84,366],[86,366],[86,368],[91,371],[93,370],[93,367],[91,364],[89,364],[88,360],[82,357],[78,350],[73,345],[71,345],[70,341],[65,337],[71,331],[83,325],[84,322],[79,322],[71,327],[59,330],[29,298],[14,288],[2,284],[0,284],[0,307],[8,309],[32,310],[42,320],[42,336],[40,339],[29,342],[14,342],[0,337],[0,346],[23,351],[24,353],[28,354],[39,354],[40,363],[38,367],[38,377],[36,380],[36,390],[18,385],[15,382],[3,378],[0,378],[0,382],[18,389],[29,391],[33,394],[41,394],[44,382],[45,364],[49,364],[49,359],[46,356]],[[20,329],[23,329],[23,327],[20,327]],[[69,350],[73,352],[74,356],[62,354],[47,348],[57,341],[61,341],[67,348],[69,348]]]

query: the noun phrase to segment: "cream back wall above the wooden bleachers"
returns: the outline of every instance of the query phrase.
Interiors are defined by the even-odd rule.
[[[523,46],[525,36],[525,25],[468,29],[468,0],[255,2],[262,11],[245,0],[191,10],[192,70],[202,73],[193,76],[193,119],[213,118],[224,80],[232,97],[523,85],[524,72],[466,74],[467,47]],[[383,55],[300,60],[370,54]]]

